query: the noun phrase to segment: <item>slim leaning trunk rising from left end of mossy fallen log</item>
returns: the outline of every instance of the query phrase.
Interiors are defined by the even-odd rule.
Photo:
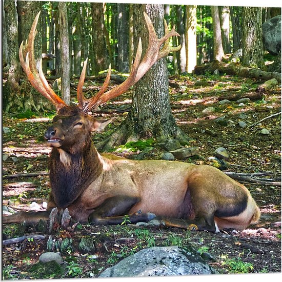
[[[224,50],[221,40],[218,7],[211,6],[211,11],[212,11],[212,27],[213,27],[213,58],[220,62],[224,57]]]

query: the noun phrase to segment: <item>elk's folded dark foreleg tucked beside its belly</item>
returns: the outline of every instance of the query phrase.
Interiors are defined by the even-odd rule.
[[[122,224],[125,221],[125,215],[129,210],[139,202],[138,197],[115,196],[105,200],[90,215],[89,221],[97,225]],[[148,222],[153,219],[153,213],[133,213],[128,215],[130,223],[139,221]]]

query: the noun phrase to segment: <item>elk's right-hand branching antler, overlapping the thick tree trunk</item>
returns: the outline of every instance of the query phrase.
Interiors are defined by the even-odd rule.
[[[84,82],[85,77],[85,70],[86,70],[86,64],[87,60],[85,61],[82,75],[80,76],[78,87],[77,87],[77,99],[79,107],[84,111],[88,112],[91,109],[93,109],[95,106],[98,106],[102,103],[107,102],[108,100],[115,98],[119,96],[120,94],[127,91],[131,86],[133,86],[140,78],[144,76],[144,74],[153,66],[153,64],[160,58],[163,58],[167,56],[170,52],[178,51],[181,48],[181,45],[177,47],[170,47],[169,46],[169,38],[171,36],[180,36],[176,31],[175,27],[173,26],[172,30],[168,30],[167,23],[165,21],[165,35],[162,38],[157,38],[154,26],[151,22],[151,19],[149,16],[144,12],[145,21],[147,24],[148,32],[149,32],[149,44],[146,51],[146,54],[144,55],[144,58],[140,62],[141,55],[142,55],[142,42],[141,38],[139,39],[136,56],[134,59],[134,63],[132,66],[132,70],[130,72],[129,77],[120,85],[117,87],[107,91],[106,88],[108,87],[110,75],[111,75],[111,68],[109,67],[108,75],[106,77],[106,80],[104,82],[104,85],[100,89],[100,91],[93,96],[92,98],[85,99],[83,93],[82,93],[82,86]],[[165,43],[165,44],[164,44]],[[159,48],[164,44],[164,47],[162,50],[159,50]]]

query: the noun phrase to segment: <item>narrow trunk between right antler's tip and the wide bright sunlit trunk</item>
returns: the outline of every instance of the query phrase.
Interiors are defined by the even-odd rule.
[[[178,45],[181,45],[181,49],[177,52],[178,55],[178,68],[180,73],[186,70],[186,53],[185,53],[185,35],[184,35],[184,18],[183,10],[181,5],[176,5],[176,31],[179,33],[180,37],[178,39]]]

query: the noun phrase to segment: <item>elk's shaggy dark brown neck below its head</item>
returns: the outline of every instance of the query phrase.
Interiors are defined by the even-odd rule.
[[[91,136],[79,151],[52,149],[49,160],[50,185],[58,208],[72,204],[102,173],[101,158]]]

